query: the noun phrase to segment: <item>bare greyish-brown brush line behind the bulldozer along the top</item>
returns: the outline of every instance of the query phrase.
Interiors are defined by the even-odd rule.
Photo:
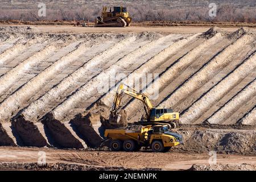
[[[135,22],[142,21],[203,21],[203,22],[247,22],[256,23],[255,8],[239,8],[230,4],[217,7],[217,16],[208,15],[208,7],[186,9],[157,9],[154,5],[129,5],[129,13]],[[1,10],[0,20],[90,20],[101,15],[100,7],[80,7],[78,9],[47,9],[46,17],[38,16],[38,9]]]

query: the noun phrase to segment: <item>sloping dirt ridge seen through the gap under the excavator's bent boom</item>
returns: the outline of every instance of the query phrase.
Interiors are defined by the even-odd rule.
[[[149,85],[147,85],[148,87],[147,89],[146,88],[143,89],[144,90],[143,92],[146,92],[149,96],[153,95],[156,92],[159,92],[158,99],[153,101],[153,104],[158,105],[160,102],[160,99],[163,98],[163,90],[165,92],[166,87],[170,87],[167,89],[170,94],[171,90],[175,88],[174,84],[171,84],[171,82],[173,82],[177,77],[179,77],[179,75],[181,75],[181,73],[183,73],[185,69],[189,67],[189,65],[193,64],[193,62],[196,59],[197,59],[197,64],[200,65],[198,63],[200,61],[199,56],[203,55],[204,52],[206,52],[209,47],[214,49],[214,46],[216,46],[216,44],[218,45],[218,43],[221,42],[222,39],[224,39],[224,37],[220,33],[217,33],[212,38],[205,40],[199,46],[195,46],[196,48],[193,48],[187,54],[177,59],[174,64],[171,64],[170,67],[167,67],[166,70],[164,70],[164,72],[160,73],[158,80],[154,80],[154,81],[158,81],[158,87],[150,86],[152,84],[154,85],[154,81],[153,81]],[[189,75],[189,72],[186,72],[186,73]],[[141,109],[142,106],[143,104],[141,101],[131,100],[131,102],[128,105],[126,105],[124,109],[127,111],[127,115],[131,117],[131,114],[133,114],[135,110],[142,111]],[[135,115],[137,114],[134,114],[133,116]]]

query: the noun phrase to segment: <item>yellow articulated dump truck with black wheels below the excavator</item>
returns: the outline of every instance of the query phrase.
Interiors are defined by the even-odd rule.
[[[141,130],[105,130],[105,137],[111,139],[112,151],[139,151],[146,147],[154,152],[167,152],[171,147],[183,143],[182,136],[172,133],[167,125],[149,125]]]

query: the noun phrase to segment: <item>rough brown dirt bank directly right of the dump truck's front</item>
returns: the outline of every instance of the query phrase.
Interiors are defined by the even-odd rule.
[[[179,130],[177,133],[183,136],[184,144],[174,147],[173,151],[191,153],[216,151],[218,154],[256,154],[256,133],[254,130]]]

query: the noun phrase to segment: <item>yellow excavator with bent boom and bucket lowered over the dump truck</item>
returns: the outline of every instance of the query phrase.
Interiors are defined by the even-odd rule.
[[[121,110],[120,104],[123,94],[127,94],[135,99],[143,102],[146,111],[146,117],[135,124],[139,125],[168,125],[170,128],[175,128],[179,121],[179,113],[174,112],[172,109],[163,107],[153,107],[147,94],[139,93],[128,85],[121,84],[115,94],[112,110],[109,115],[109,123],[118,125],[119,123],[127,122],[126,113]]]

